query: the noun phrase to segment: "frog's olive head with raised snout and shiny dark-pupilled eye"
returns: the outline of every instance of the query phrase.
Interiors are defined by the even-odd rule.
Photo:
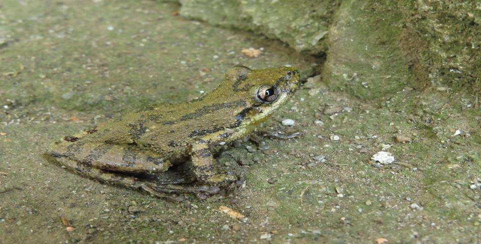
[[[226,86],[235,99],[246,101],[245,122],[262,121],[286,104],[301,85],[299,71],[291,67],[251,70],[233,67],[225,74]]]

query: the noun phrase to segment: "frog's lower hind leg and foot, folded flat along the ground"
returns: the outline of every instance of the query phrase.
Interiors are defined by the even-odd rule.
[[[120,173],[113,173],[107,170],[88,167],[80,162],[74,161],[67,157],[55,157],[55,160],[61,165],[73,170],[81,175],[87,176],[92,179],[100,180],[107,183],[112,183],[124,187],[139,189],[142,188],[145,191],[162,198],[178,201],[179,198],[172,194],[193,193],[204,198],[205,196],[215,194],[219,191],[216,187],[207,186],[187,186],[187,185],[174,185],[174,184],[161,184],[145,182],[141,179]],[[162,174],[162,173],[161,173]]]

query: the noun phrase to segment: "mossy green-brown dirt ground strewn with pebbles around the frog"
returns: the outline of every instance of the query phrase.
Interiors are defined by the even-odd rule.
[[[315,76],[322,59],[182,19],[178,7],[0,3],[0,243],[479,242],[476,96],[405,87],[358,100]],[[262,54],[249,58],[247,48]],[[234,65],[291,65],[310,78],[258,128],[301,137],[219,153],[217,167],[245,179],[229,195],[173,203],[43,157],[62,136],[142,105],[201,97]],[[394,162],[373,160],[380,151]]]

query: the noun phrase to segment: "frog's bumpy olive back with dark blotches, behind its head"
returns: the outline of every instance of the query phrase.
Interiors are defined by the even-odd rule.
[[[99,125],[88,140],[137,144],[159,153],[180,153],[193,141],[235,127],[238,111],[245,106],[243,100],[148,105]]]

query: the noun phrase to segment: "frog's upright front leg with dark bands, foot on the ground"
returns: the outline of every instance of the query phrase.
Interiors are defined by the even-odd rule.
[[[207,141],[196,141],[192,145],[190,157],[192,160],[194,174],[200,181],[204,181],[209,184],[223,184],[235,180],[235,177],[233,175],[216,174],[214,172],[214,158],[212,156],[212,152],[209,149]]]

